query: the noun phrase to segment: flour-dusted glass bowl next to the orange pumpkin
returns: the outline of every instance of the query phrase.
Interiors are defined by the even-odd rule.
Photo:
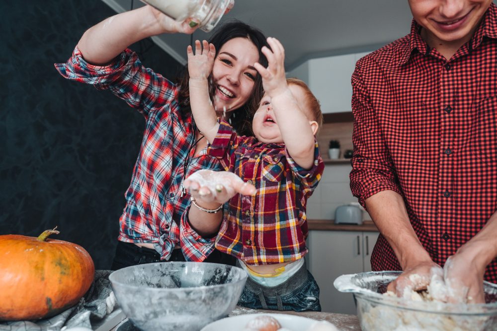
[[[247,272],[230,265],[166,262],[109,275],[126,317],[144,331],[199,331],[235,308]]]

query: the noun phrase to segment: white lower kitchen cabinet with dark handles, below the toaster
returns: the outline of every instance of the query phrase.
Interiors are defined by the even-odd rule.
[[[309,231],[308,267],[320,288],[323,312],[356,314],[351,293],[338,292],[333,281],[342,274],[371,271],[370,255],[377,231]]]

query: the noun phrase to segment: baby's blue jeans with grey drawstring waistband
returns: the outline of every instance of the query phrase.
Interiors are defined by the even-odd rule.
[[[305,264],[276,286],[263,286],[248,277],[238,305],[251,309],[321,311],[318,283]]]

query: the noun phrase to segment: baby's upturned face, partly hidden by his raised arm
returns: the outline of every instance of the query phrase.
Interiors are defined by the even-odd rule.
[[[295,84],[290,84],[288,87],[300,109],[309,116],[304,89]],[[264,94],[262,100],[260,100],[259,108],[253,115],[252,131],[257,140],[261,142],[283,142],[283,137],[281,136],[278,123],[276,123],[276,116],[271,105],[271,98],[267,94]]]

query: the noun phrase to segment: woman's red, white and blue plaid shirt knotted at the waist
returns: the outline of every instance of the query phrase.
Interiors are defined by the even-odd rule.
[[[162,248],[163,260],[179,244],[186,260],[203,261],[212,251],[214,239],[202,238],[188,222],[181,222],[181,215],[190,204],[188,194],[181,197],[183,164],[191,159],[186,177],[200,169],[222,168],[215,157],[207,155],[206,149],[193,157],[192,117],[181,114],[176,85],[143,67],[130,50],[108,66],[93,66],[84,61],[76,48],[67,63],[55,66],[68,79],[112,91],[145,117],[140,153],[119,219],[118,240],[157,244]]]

